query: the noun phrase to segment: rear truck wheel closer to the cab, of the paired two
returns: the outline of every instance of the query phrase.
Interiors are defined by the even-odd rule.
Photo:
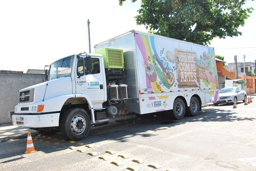
[[[184,118],[186,107],[182,99],[177,98],[174,100],[173,109],[168,111],[167,118],[180,120]]]

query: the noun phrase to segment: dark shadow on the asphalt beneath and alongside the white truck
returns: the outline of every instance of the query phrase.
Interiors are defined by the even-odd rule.
[[[154,139],[154,137],[157,138],[157,131],[166,130],[177,125],[186,124],[188,122],[234,122],[244,120],[254,121],[256,119],[239,117],[236,114],[237,113],[233,110],[203,108],[198,116],[185,117],[181,120],[167,120],[165,117],[154,117],[153,119],[134,119],[129,121],[122,121],[116,124],[93,127],[87,138],[79,142],[82,142],[84,144],[91,144],[101,141],[114,140],[123,143],[129,142],[130,138],[133,137],[136,137],[138,140],[143,141],[143,139]],[[47,137],[45,138],[45,140],[60,142],[59,145],[54,145],[53,143],[46,143],[45,141],[41,142],[39,140],[33,140],[35,149],[38,151],[42,151],[43,153],[53,153],[56,151],[66,150],[69,146],[84,147],[78,146],[76,143],[60,141],[60,139],[63,138],[60,133],[53,135],[53,137],[56,137],[58,140],[54,141],[52,138],[47,139]],[[0,149],[9,149],[8,151],[3,150],[0,152],[0,159],[6,158],[6,160],[1,161],[0,163],[9,163],[26,157],[26,155],[24,155],[24,152],[26,150],[26,143],[27,139],[17,139],[12,141],[0,142]],[[14,156],[17,156],[17,158],[9,158]]]

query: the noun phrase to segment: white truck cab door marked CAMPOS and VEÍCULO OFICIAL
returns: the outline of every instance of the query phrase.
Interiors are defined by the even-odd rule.
[[[97,106],[102,105],[105,96],[102,63],[100,62],[100,57],[92,57],[92,62],[92,69],[87,70],[86,57],[77,59],[76,94],[86,94],[93,103],[94,108],[99,108]]]

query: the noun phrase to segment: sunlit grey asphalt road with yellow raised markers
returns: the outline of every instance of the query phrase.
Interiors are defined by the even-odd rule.
[[[204,107],[198,116],[178,121],[156,117],[94,127],[86,139],[79,141],[93,144],[93,148],[36,137],[52,142],[34,139],[38,152],[24,154],[27,139],[0,142],[0,169],[113,171],[135,166],[149,171],[256,170],[255,105],[256,102],[247,106],[238,103],[236,109],[232,105]],[[68,149],[69,146],[75,146],[76,150]],[[106,150],[116,153],[107,154]],[[98,155],[90,156],[87,154],[90,151]],[[129,157],[121,158],[120,153]],[[99,159],[103,154],[110,159]],[[133,158],[143,159],[144,163],[134,163]],[[115,166],[112,160],[123,165]],[[161,167],[150,168],[147,165],[151,163]]]

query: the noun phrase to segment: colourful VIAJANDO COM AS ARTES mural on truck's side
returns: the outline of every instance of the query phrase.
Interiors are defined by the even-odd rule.
[[[136,44],[138,54],[143,58],[138,58],[139,64],[143,66],[139,68],[144,70],[140,73],[145,72],[146,87],[141,89],[142,92],[218,88],[212,49],[138,33]],[[213,101],[216,101],[218,95],[213,94],[214,92],[211,94]],[[168,96],[158,98],[166,99]],[[154,99],[155,97],[150,98]]]

